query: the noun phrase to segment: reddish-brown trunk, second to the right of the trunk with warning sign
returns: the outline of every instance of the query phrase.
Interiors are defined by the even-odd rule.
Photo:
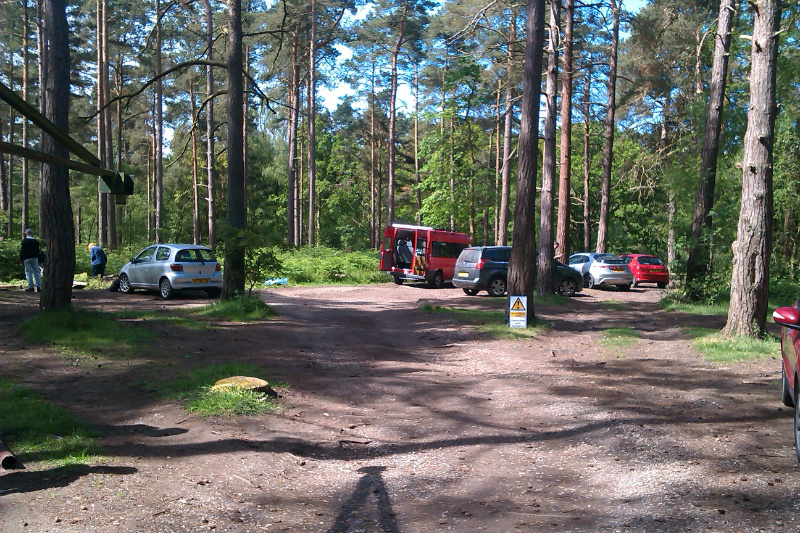
[[[555,257],[567,261],[570,252],[570,195],[572,193],[572,27],[575,0],[564,10],[564,67],[561,69],[561,161],[558,173],[558,224]]]

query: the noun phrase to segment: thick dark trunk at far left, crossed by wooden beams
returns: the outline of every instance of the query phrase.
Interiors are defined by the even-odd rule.
[[[44,0],[47,27],[47,86],[45,117],[69,133],[69,28],[65,0]],[[61,143],[44,136],[44,152],[69,157]],[[47,268],[39,300],[43,311],[65,309],[72,298],[75,274],[75,226],[69,197],[69,172],[65,167],[44,165],[41,210],[47,235]]]

